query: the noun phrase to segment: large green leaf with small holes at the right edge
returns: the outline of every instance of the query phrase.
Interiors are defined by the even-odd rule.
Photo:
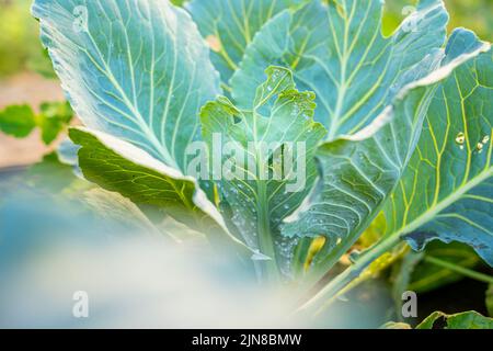
[[[415,155],[386,207],[388,235],[413,248],[433,239],[470,245],[493,265],[491,167],[493,61],[490,45],[456,31],[460,47],[489,49],[458,68],[436,92]]]

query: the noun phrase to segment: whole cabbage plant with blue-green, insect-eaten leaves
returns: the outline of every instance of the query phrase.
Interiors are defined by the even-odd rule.
[[[265,284],[295,283],[298,309],[314,313],[403,241],[460,241],[493,265],[490,44],[447,35],[442,0],[422,0],[386,37],[382,7],[36,0],[32,11],[84,125],[69,132],[84,178],[204,235]],[[321,284],[376,218],[378,240]]]

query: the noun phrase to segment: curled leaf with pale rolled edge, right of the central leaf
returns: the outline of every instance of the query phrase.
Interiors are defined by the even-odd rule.
[[[326,141],[317,159],[321,177],[311,195],[286,219],[283,234],[328,240],[316,257],[321,273],[331,268],[368,227],[397,186],[413,155],[428,105],[451,71],[484,49],[468,46],[469,32],[450,39],[443,67],[409,86],[368,127]],[[469,37],[470,39],[470,37]],[[462,53],[463,55],[459,55]]]

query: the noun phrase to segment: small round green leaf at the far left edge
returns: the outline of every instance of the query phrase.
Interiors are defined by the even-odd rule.
[[[33,110],[28,105],[11,105],[0,112],[0,131],[23,138],[36,126]]]

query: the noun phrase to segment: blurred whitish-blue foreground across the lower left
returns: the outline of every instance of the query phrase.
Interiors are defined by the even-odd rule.
[[[200,238],[176,245],[128,213],[107,217],[111,193],[76,181],[74,201],[70,186],[54,195],[59,182],[39,177],[0,173],[0,328],[376,328],[392,306],[374,284],[323,322],[303,320],[293,314],[296,286],[263,286],[250,264]],[[85,294],[89,316],[77,318]]]

